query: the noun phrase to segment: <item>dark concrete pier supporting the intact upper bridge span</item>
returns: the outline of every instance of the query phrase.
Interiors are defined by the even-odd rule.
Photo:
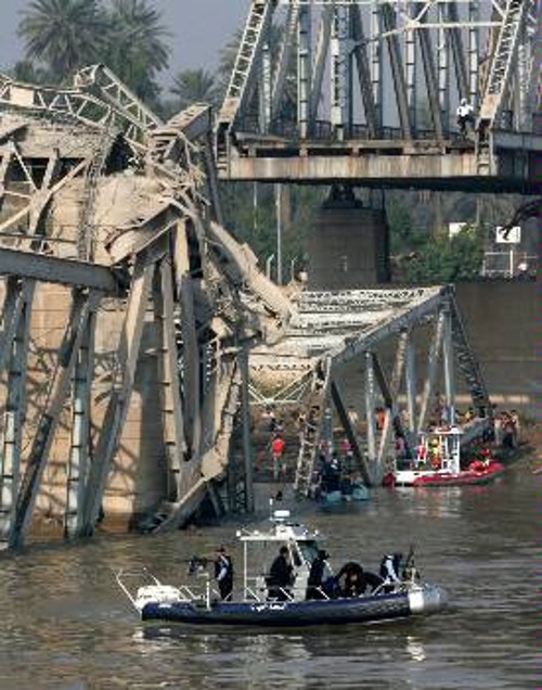
[[[348,290],[389,282],[389,228],[384,207],[364,205],[350,186],[334,184],[309,235],[309,290]]]

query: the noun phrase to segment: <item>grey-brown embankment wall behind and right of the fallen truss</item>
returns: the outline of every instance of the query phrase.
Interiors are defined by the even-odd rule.
[[[542,419],[542,314],[540,282],[487,281],[461,283],[456,295],[468,341],[479,362],[490,398],[499,409],[517,409],[530,419]],[[429,343],[434,325],[418,325],[416,345],[416,391],[418,401],[427,372]],[[377,348],[386,371],[392,368],[397,340]],[[356,359],[337,372],[345,401],[359,411],[364,409],[363,363]],[[465,381],[456,370],[456,405],[464,410],[470,405]],[[443,392],[439,371],[435,392]],[[404,401],[404,396],[400,396]]]

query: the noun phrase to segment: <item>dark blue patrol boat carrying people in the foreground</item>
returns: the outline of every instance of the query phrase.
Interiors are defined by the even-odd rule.
[[[243,590],[238,598],[221,600],[207,573],[202,588],[171,586],[151,577],[151,584],[132,593],[127,573],[117,583],[143,621],[197,625],[309,626],[373,623],[440,611],[444,591],[422,583],[413,557],[401,568],[400,558],[386,557],[380,574],[367,573],[358,563],[346,563],[335,575],[318,533],[291,520],[289,511],[276,510],[271,527],[237,533],[243,548]],[[280,582],[279,558],[271,567],[268,551],[284,557],[287,582]],[[284,566],[282,567],[284,572]],[[318,572],[318,573],[317,573]],[[328,573],[326,577],[324,574]],[[399,574],[400,573],[400,574]]]

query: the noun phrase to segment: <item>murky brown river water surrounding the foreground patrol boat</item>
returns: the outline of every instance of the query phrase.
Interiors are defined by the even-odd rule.
[[[0,688],[541,688],[541,488],[527,460],[490,486],[376,489],[349,511],[299,508],[336,566],[353,557],[374,570],[413,544],[424,578],[448,590],[443,613],[369,626],[143,626],[115,572],[146,565],[185,582],[188,559],[221,542],[241,572],[235,521],[2,554]],[[269,490],[257,487],[262,520]]]

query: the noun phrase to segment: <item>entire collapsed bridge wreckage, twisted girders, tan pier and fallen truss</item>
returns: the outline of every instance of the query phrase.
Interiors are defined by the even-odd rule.
[[[367,439],[369,469],[353,443],[370,483],[404,368],[412,432],[425,422],[441,355],[453,404],[454,348],[475,405],[490,407],[447,289],[292,299],[258,270],[223,227],[212,126],[205,104],[163,123],[103,65],[69,89],[0,77],[4,546],[43,518],[77,537],[103,514],[160,532],[204,501],[217,515],[253,510],[255,346],[305,338],[311,380],[324,372],[307,405],[317,395],[323,410],[331,395],[352,440],[334,372],[363,357],[367,419],[375,379],[389,408],[380,450]],[[415,413],[410,338],[435,317]],[[389,385],[375,349],[388,335],[398,338]],[[232,449],[237,430],[242,452]],[[297,488],[314,457],[300,442]]]

